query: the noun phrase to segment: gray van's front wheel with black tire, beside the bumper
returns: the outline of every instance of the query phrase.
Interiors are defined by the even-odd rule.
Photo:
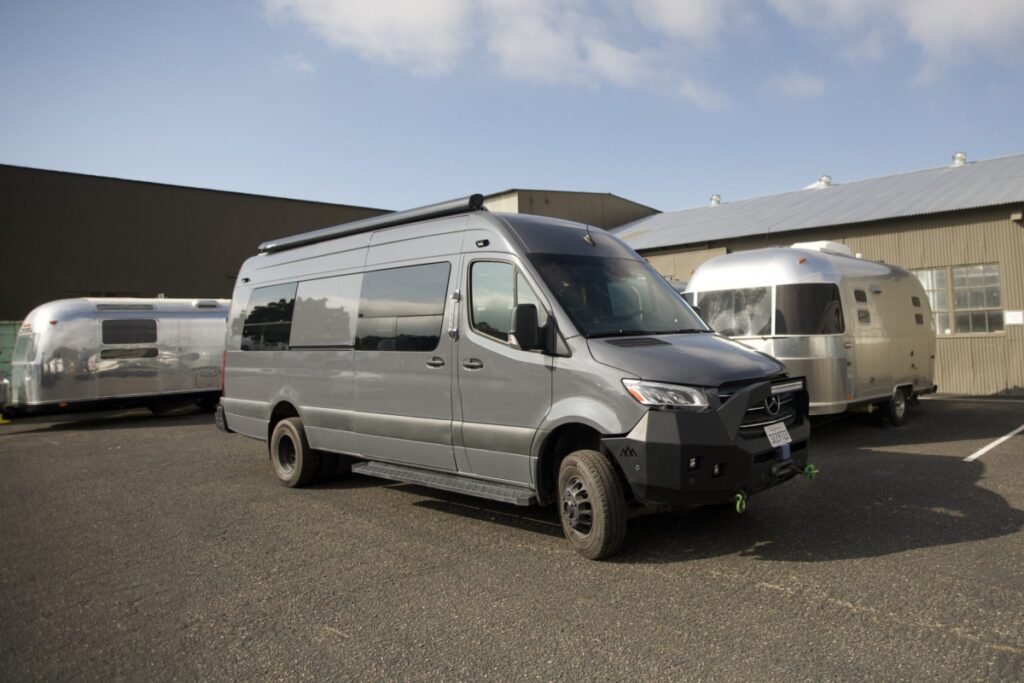
[[[611,463],[577,451],[558,468],[558,515],[572,549],[592,560],[618,552],[626,540],[626,496]]]

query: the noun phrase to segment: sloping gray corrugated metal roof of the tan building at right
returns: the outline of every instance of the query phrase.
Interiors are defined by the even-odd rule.
[[[1024,155],[671,211],[611,230],[636,250],[1024,202]]]

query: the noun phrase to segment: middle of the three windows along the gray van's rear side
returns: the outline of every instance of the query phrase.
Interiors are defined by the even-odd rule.
[[[290,346],[352,346],[362,275],[299,283]]]

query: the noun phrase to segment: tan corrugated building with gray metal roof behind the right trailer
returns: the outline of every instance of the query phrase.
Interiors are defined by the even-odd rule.
[[[612,230],[686,282],[733,251],[830,240],[914,271],[931,300],[939,391],[1024,395],[1024,155],[720,202]]]

